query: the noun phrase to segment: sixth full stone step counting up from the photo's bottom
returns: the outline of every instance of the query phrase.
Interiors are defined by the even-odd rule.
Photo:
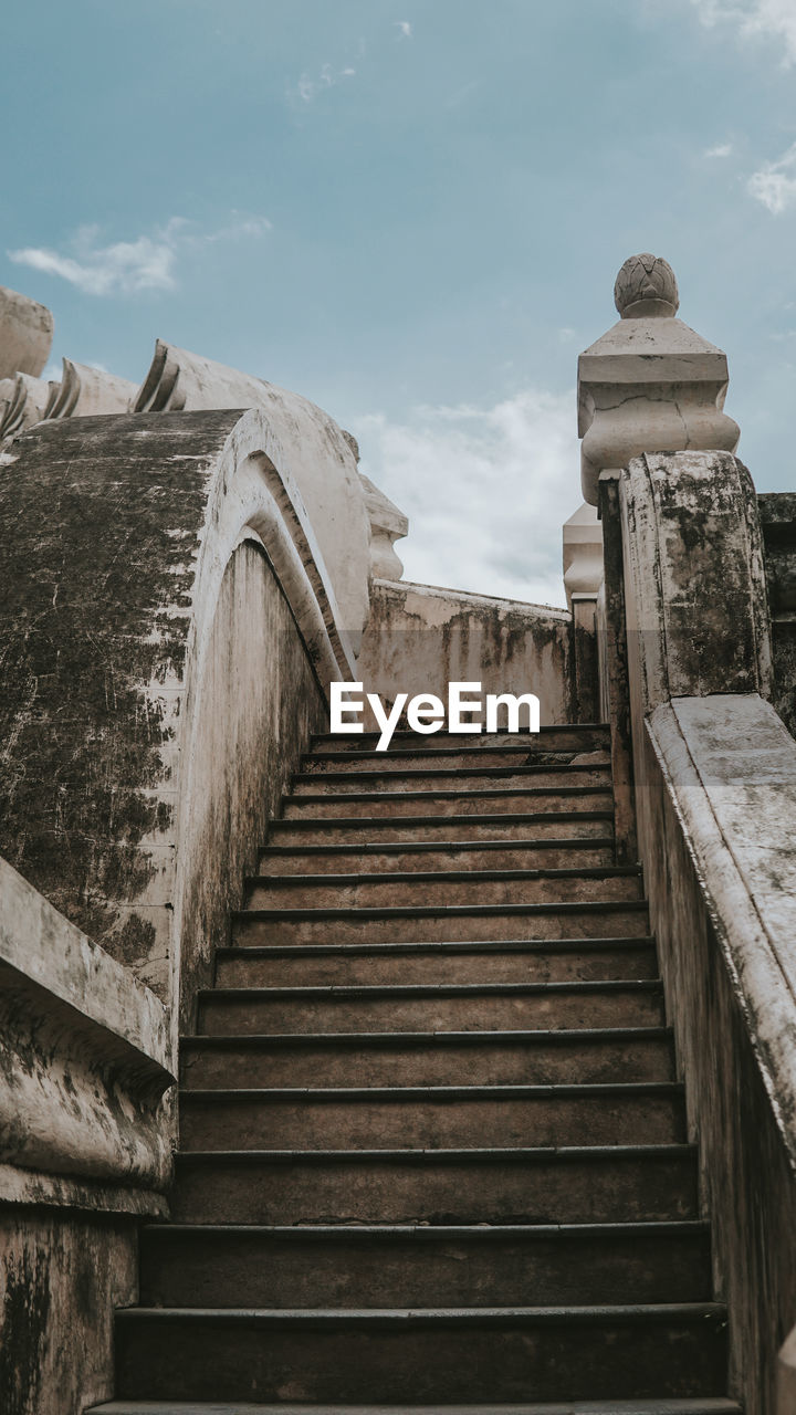
[[[200,1032],[538,1032],[660,1027],[660,982],[460,983],[381,988],[217,988]]]

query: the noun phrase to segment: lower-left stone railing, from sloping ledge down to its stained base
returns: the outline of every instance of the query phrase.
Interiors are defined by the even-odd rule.
[[[4,860],[0,982],[3,1409],[75,1415],[110,1392],[137,1220],[167,1213],[169,1017]]]

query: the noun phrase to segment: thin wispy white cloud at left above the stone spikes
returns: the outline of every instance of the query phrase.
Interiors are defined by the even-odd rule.
[[[85,294],[136,294],[140,290],[173,290],[180,258],[191,248],[220,241],[258,238],[271,231],[265,216],[231,212],[218,231],[197,231],[184,216],[171,216],[152,236],[101,243],[99,226],[81,226],[65,252],[47,246],[8,250],[8,259],[44,275],[59,276]]]

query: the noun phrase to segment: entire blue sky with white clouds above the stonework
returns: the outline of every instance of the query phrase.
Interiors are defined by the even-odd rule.
[[[0,283],[140,382],[156,337],[320,403],[406,579],[564,603],[578,352],[626,256],[796,490],[796,0],[25,0]]]

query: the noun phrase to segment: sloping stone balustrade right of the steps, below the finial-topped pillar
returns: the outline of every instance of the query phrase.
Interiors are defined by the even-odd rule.
[[[728,1298],[731,1388],[775,1409],[796,1317],[796,743],[756,695],[676,699],[636,758],[650,921]]]

